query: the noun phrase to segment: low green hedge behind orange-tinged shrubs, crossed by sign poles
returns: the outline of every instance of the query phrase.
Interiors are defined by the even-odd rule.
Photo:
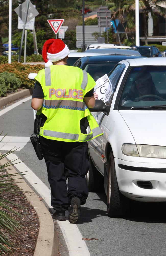
[[[11,56],[11,62],[14,62],[14,61],[18,61],[18,55]],[[23,61],[24,61],[24,57],[21,56],[20,62],[23,62]],[[32,54],[26,57],[26,62],[41,62],[41,61],[43,62],[42,55]],[[0,55],[0,63],[1,64],[8,63],[8,56]]]

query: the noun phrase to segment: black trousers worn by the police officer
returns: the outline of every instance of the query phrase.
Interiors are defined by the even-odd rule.
[[[39,138],[51,187],[51,206],[54,210],[66,211],[74,196],[85,204],[88,197],[85,175],[89,170],[87,143]]]

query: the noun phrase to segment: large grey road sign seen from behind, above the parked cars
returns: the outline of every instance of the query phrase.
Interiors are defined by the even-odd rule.
[[[98,32],[99,28],[97,25],[85,26],[85,45],[96,44],[98,41],[92,36],[92,33]],[[104,27],[101,28],[101,33],[104,32]],[[83,45],[83,30],[82,26],[76,26],[76,47],[81,48]]]

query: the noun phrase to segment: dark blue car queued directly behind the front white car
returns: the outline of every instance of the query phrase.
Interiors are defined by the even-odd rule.
[[[89,56],[78,59],[73,66],[79,67],[87,71],[96,81],[104,74],[108,74],[115,65],[126,59],[144,58],[142,56],[127,56],[127,55],[102,55]]]

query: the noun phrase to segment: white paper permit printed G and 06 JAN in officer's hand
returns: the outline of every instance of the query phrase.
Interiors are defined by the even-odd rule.
[[[98,100],[107,102],[112,95],[112,84],[107,74],[98,78],[94,87],[94,92],[98,94]]]

